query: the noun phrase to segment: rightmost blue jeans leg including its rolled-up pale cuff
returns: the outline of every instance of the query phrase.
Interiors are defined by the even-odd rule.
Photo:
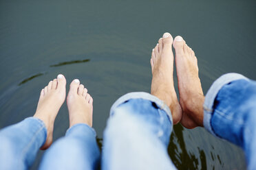
[[[204,103],[204,120],[209,120],[204,122],[205,127],[215,136],[242,147],[248,169],[255,169],[256,82],[238,74],[223,75],[216,82]],[[215,96],[208,95],[218,88]]]

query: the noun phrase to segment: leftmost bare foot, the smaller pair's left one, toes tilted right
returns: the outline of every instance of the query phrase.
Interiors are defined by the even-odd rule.
[[[66,80],[64,75],[49,82],[39,97],[39,104],[34,117],[41,119],[47,129],[47,138],[41,149],[47,149],[52,144],[52,132],[58,110],[61,108],[66,96]]]

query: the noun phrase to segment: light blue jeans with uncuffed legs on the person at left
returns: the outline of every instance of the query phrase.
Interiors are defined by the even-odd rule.
[[[47,130],[34,117],[0,131],[0,169],[29,169]],[[39,169],[98,169],[100,151],[96,132],[86,124],[73,125],[63,138],[47,149]]]

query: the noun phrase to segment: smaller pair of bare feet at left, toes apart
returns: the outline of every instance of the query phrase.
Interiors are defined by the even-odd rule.
[[[47,138],[41,149],[47,149],[52,144],[54,121],[66,97],[66,80],[64,75],[58,75],[57,79],[49,82],[41,90],[39,103],[34,117],[41,119],[47,129]],[[87,88],[75,79],[70,84],[67,95],[67,108],[70,116],[70,127],[77,123],[86,123],[92,127],[93,99],[87,93]]]

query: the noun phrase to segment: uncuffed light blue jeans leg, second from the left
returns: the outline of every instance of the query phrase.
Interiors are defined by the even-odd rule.
[[[79,123],[45,152],[39,169],[97,169],[99,159],[96,132]]]

